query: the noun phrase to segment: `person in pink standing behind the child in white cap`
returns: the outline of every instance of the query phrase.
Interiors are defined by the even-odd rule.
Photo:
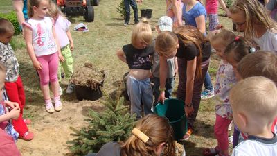
[[[183,25],[181,20],[182,8],[181,0],[166,0],[166,16],[173,20],[173,27]]]

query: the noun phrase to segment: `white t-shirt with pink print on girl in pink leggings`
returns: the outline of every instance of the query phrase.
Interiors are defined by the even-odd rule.
[[[50,55],[57,52],[57,44],[53,36],[53,19],[44,17],[41,20],[28,19],[24,26],[32,30],[33,49],[36,56]]]

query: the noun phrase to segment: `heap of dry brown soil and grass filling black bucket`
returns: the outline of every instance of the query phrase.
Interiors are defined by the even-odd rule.
[[[104,71],[99,71],[93,68],[92,63],[84,63],[75,69],[75,73],[71,76],[71,82],[75,85],[91,87],[91,89],[98,89],[99,85],[105,79]]]

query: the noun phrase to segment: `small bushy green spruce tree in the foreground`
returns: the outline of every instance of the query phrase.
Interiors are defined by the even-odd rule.
[[[120,89],[116,99],[112,99],[105,92],[105,101],[101,101],[107,107],[104,112],[89,111],[89,123],[87,127],[81,130],[73,130],[76,139],[67,141],[69,147],[74,155],[87,155],[87,153],[96,153],[104,144],[109,141],[122,141],[125,140],[130,134],[135,115],[131,116],[128,107],[123,105],[124,98],[120,98]]]

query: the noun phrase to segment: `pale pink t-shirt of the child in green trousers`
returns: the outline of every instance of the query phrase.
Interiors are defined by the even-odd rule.
[[[66,19],[66,17],[62,17],[59,15],[57,20],[55,21],[55,31],[57,35],[57,40],[59,40],[60,47],[63,48],[69,44],[69,37],[66,32],[69,31],[69,26],[71,22]]]

